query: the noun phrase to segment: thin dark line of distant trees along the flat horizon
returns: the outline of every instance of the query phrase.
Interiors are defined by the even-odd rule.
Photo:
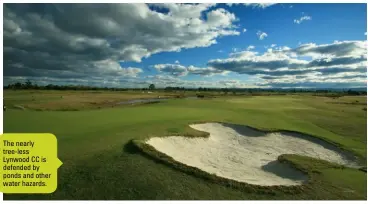
[[[165,87],[156,88],[154,84],[150,84],[147,88],[111,88],[111,87],[93,87],[93,86],[83,86],[83,85],[55,85],[48,84],[44,86],[37,85],[27,80],[25,83],[16,82],[14,84],[9,84],[4,86],[4,89],[13,90],[23,90],[23,89],[33,89],[33,90],[95,90],[95,91],[129,91],[129,90],[164,90],[166,92],[184,92],[184,91],[199,91],[199,92],[222,92],[224,94],[252,94],[257,95],[257,93],[314,93],[316,95],[367,95],[366,90],[353,90],[353,89],[275,89],[275,88],[185,88],[185,87]]]

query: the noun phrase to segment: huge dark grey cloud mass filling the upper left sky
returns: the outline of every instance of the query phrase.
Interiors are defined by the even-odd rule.
[[[208,47],[219,37],[239,35],[235,15],[222,8],[210,10],[213,6],[6,4],[4,75],[134,77],[144,70],[119,62]]]

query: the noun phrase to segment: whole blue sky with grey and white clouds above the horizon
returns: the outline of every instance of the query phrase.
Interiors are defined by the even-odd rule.
[[[366,87],[366,4],[4,4],[4,85]]]

